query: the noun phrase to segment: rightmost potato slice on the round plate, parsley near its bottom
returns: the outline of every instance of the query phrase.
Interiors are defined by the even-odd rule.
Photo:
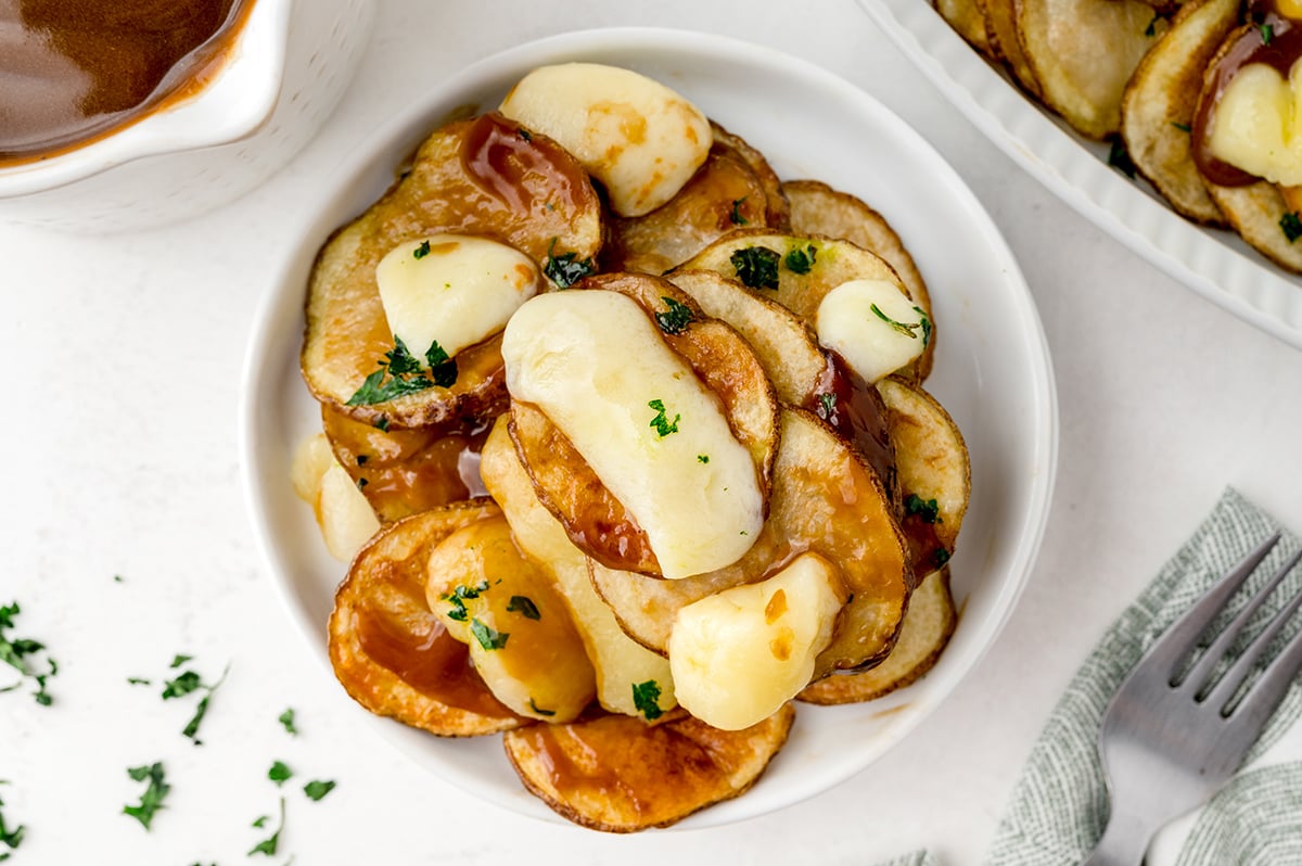
[[[967,447],[949,413],[922,388],[889,378],[878,391],[894,444],[901,527],[914,572],[928,574],[949,561],[958,540],[971,491]]]

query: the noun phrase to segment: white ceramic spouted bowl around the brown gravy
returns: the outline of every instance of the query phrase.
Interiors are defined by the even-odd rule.
[[[333,111],[374,0],[253,0],[216,78],[100,139],[0,168],[0,220],[111,233],[198,216],[258,184]]]

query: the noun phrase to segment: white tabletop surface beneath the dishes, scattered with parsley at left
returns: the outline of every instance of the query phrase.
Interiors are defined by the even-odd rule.
[[[811,59],[928,138],[1021,260],[1053,353],[1061,440],[1048,531],[1021,604],[967,681],[898,749],[777,814],[612,837],[470,800],[363,724],[290,628],[254,550],[236,406],[254,309],[298,208],[368,130],[486,53],[633,23]],[[385,0],[339,112],[266,188],[150,233],[0,227],[0,288],[9,379],[0,604],[23,606],[17,634],[44,641],[61,667],[53,707],[0,694],[0,779],[9,781],[0,811],[27,827],[14,866],[264,862],[246,857],[267,835],[250,824],[276,811],[280,793],[288,817],[273,863],[828,866],[919,846],[947,865],[976,863],[1068,678],[1221,488],[1233,484],[1302,529],[1302,356],[1170,281],[1023,176],[852,0]],[[180,734],[191,702],[126,682],[160,681],[176,652],[210,678],[230,665],[199,747]],[[298,737],[276,721],[286,707]],[[294,783],[339,788],[319,803],[301,784],[277,790],[266,779],[276,759]],[[165,763],[172,792],[146,833],[120,813],[143,788],[126,768],[154,761]]]

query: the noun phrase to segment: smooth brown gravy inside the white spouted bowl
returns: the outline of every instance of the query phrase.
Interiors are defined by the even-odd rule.
[[[0,0],[0,165],[53,156],[203,87],[254,0]]]

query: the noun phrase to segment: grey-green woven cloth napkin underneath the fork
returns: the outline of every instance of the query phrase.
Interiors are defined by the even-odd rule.
[[[1148,646],[1203,591],[1281,527],[1226,490],[1198,531],[1112,624],[1051,714],[995,833],[987,866],[1075,866],[1094,848],[1108,817],[1096,749],[1103,711]],[[1299,547],[1282,534],[1237,600],[1262,586]],[[1302,586],[1302,568],[1263,604],[1246,632],[1264,622]],[[1225,620],[1233,611],[1225,615]],[[1277,638],[1302,629],[1293,617]],[[1223,625],[1224,622],[1221,622]],[[1272,647],[1272,651],[1277,649]],[[1302,682],[1294,682],[1243,768],[1195,818],[1159,835],[1148,866],[1302,865]],[[881,866],[939,866],[914,852]]]

